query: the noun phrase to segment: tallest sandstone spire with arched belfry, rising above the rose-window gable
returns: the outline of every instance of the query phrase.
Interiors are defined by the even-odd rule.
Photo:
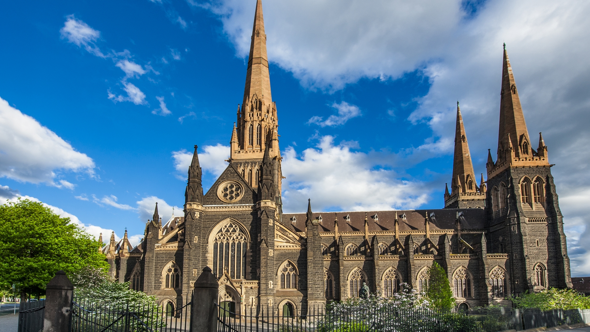
[[[262,2],[257,0],[252,28],[250,56],[242,106],[238,107],[237,140],[232,137],[230,159],[262,159],[266,145],[270,157],[280,156],[278,149],[277,107],[270,93],[270,74],[266,54],[266,33]],[[233,135],[232,135],[233,136]],[[235,142],[234,142],[235,141]]]

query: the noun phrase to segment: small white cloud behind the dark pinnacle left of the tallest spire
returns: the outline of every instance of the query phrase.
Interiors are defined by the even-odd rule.
[[[182,173],[177,176],[181,180],[186,180],[186,172],[191,166],[193,152],[185,149],[172,152],[174,159],[174,168]],[[205,145],[199,150],[199,164],[201,168],[214,176],[219,176],[227,168],[228,163],[225,161],[230,157],[230,147],[217,143],[217,145]]]

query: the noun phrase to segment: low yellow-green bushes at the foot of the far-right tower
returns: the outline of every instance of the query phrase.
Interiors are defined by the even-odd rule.
[[[549,288],[538,293],[528,291],[510,298],[517,308],[553,309],[590,309],[590,297],[579,295],[575,290]]]

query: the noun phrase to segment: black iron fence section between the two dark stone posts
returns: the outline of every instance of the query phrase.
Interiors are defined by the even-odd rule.
[[[106,305],[92,300],[72,303],[73,332],[185,332],[191,331],[192,295],[174,309],[163,304]]]

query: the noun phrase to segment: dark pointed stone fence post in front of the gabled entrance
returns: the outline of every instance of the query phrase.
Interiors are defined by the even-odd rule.
[[[211,268],[205,267],[195,281],[195,293],[192,298],[192,331],[217,332],[217,300],[219,284],[211,273]]]

